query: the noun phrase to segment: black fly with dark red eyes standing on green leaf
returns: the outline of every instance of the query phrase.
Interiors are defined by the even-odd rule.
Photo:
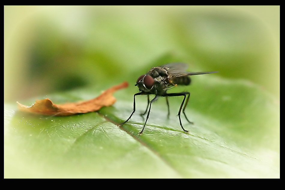
[[[197,74],[209,74],[209,73],[216,73],[216,71],[214,72],[187,72],[187,65],[184,63],[169,63],[166,65],[161,65],[159,67],[154,67],[151,70],[149,70],[149,72],[147,74],[141,75],[138,79],[137,79],[137,83],[135,84],[135,86],[138,86],[139,88],[139,92],[134,94],[134,110],[131,114],[131,116],[125,121],[123,122],[121,125],[125,124],[126,122],[128,122],[131,117],[133,116],[133,114],[136,111],[136,101],[135,101],[135,97],[137,95],[147,95],[148,96],[148,105],[146,107],[146,111],[142,114],[146,114],[148,107],[148,113],[146,116],[146,122],[149,119],[149,113],[150,113],[150,108],[152,106],[152,102],[156,101],[158,99],[158,97],[162,96],[162,97],[166,97],[166,102],[167,102],[167,107],[168,107],[168,116],[169,116],[169,103],[168,103],[168,98],[170,96],[184,96],[183,101],[181,103],[181,106],[179,108],[179,112],[178,112],[178,117],[179,117],[179,122],[180,122],[180,126],[183,129],[184,132],[189,133],[189,131],[186,131],[183,126],[182,126],[182,122],[181,122],[181,118],[180,118],[180,114],[181,114],[181,110],[182,107],[184,105],[186,96],[186,103],[183,107],[183,114],[185,116],[185,118],[187,119],[187,121],[191,124],[193,124],[192,122],[190,122],[184,112],[185,107],[188,104],[189,101],[189,97],[190,97],[190,92],[179,92],[179,93],[167,93],[167,89],[173,87],[173,86],[177,86],[177,85],[189,85],[191,80],[190,80],[190,75],[197,75]],[[155,95],[155,98],[153,98],[151,101],[149,101],[149,95]],[[146,122],[143,125],[143,129],[142,131],[140,131],[140,134],[143,133],[143,130],[146,126]]]

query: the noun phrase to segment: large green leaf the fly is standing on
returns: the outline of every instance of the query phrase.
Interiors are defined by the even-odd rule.
[[[113,106],[76,116],[28,115],[4,105],[4,177],[280,177],[274,99],[251,83],[213,76],[190,89],[186,113],[194,124],[182,116],[190,134],[176,118],[181,97],[169,98],[169,119],[158,99],[142,135],[146,96],[137,98],[130,121],[118,125],[132,111],[133,96],[124,90]],[[68,100],[53,98],[62,96]]]

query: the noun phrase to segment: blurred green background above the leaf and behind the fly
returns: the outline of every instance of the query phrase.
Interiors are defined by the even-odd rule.
[[[280,98],[280,6],[4,6],[4,101],[186,62]]]

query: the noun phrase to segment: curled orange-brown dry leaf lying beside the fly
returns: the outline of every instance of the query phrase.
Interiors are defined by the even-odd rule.
[[[98,111],[101,107],[113,105],[116,102],[116,98],[114,98],[113,93],[126,87],[128,87],[128,83],[123,82],[107,89],[94,99],[76,103],[53,104],[48,98],[37,100],[30,107],[22,105],[19,102],[17,103],[19,110],[25,112],[38,113],[42,115],[70,116],[77,113]]]

